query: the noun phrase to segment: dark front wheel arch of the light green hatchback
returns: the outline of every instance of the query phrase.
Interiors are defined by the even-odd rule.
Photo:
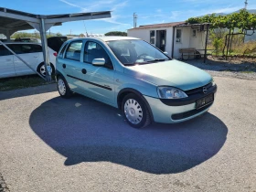
[[[133,94],[137,95],[144,101],[144,103],[149,111],[150,119],[151,119],[151,121],[154,122],[153,112],[151,111],[151,107],[150,107],[149,103],[145,100],[144,95],[140,91],[136,91],[133,88],[124,88],[123,90],[119,91],[119,93],[117,95],[118,109],[122,110],[123,98],[125,97],[125,95],[127,95],[129,93],[133,93]]]

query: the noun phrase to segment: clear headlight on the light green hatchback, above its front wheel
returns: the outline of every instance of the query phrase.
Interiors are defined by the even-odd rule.
[[[161,99],[180,99],[187,97],[184,91],[172,87],[158,87],[157,92]]]

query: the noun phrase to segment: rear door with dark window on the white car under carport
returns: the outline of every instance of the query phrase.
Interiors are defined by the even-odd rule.
[[[12,44],[12,49],[21,58],[24,59],[30,67],[37,70],[39,53],[42,54],[42,47],[37,44]],[[20,59],[14,57],[16,75],[28,75],[35,73],[28,68]]]

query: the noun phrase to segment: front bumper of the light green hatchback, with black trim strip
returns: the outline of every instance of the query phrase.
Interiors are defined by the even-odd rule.
[[[214,93],[214,98],[217,91],[217,86],[213,86],[208,94]],[[172,101],[172,100],[160,100],[158,98],[152,98],[144,96],[145,100],[148,102],[154,121],[156,123],[180,123],[187,121],[189,119],[195,118],[204,112],[207,112],[213,102],[208,105],[196,109],[197,99],[203,98],[208,94],[193,94],[188,96],[186,100],[183,101]]]

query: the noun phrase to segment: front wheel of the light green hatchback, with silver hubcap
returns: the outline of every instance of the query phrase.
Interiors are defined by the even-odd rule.
[[[144,101],[133,93],[129,93],[123,98],[122,112],[126,122],[133,128],[143,128],[151,123]]]

